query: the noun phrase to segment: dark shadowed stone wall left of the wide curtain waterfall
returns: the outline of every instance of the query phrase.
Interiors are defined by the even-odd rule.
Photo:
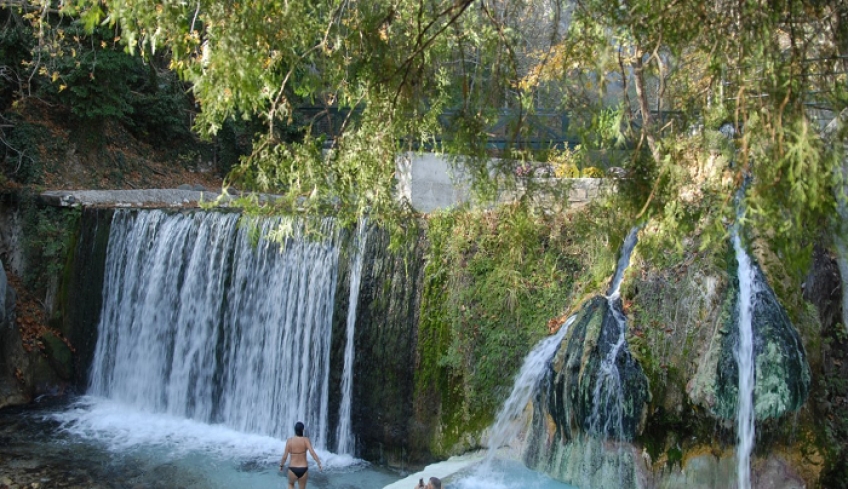
[[[54,263],[28,264],[28,256],[42,255],[29,255],[25,246],[41,241],[28,236],[37,232],[37,226],[25,225],[24,215],[26,209],[32,212],[43,201],[5,197],[0,203],[0,407],[61,395],[69,388],[84,390],[100,312],[111,218],[111,211],[102,209],[84,210],[79,221],[62,220],[64,212],[58,212],[56,224],[80,223],[79,227],[63,228],[70,239],[68,255],[53,256]],[[26,207],[33,205],[36,207]],[[7,270],[10,277],[17,277],[15,284],[31,285],[14,290]],[[32,277],[44,270],[51,275]],[[29,321],[25,331],[17,321],[21,315]]]

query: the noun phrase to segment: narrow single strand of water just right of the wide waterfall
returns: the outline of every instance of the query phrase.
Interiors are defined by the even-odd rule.
[[[359,223],[359,231],[353,246],[354,257],[350,270],[350,302],[347,309],[347,328],[345,331],[344,370],[342,371],[342,402],[339,407],[339,429],[337,453],[353,455],[354,440],[350,426],[351,399],[353,397],[353,333],[356,326],[356,309],[359,305],[359,283],[362,279],[362,263],[365,260],[365,241],[368,222]]]

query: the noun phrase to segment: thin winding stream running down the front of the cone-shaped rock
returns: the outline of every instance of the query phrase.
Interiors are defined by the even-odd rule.
[[[621,310],[621,297],[619,288],[624,279],[624,272],[630,266],[630,255],[633,248],[636,247],[638,241],[639,227],[633,227],[627,234],[624,240],[624,245],[621,249],[621,256],[618,259],[618,265],[613,275],[612,283],[607,292],[607,306],[609,312],[615,320],[615,338],[604,338],[604,343],[609,344],[609,350],[601,358],[598,366],[597,378],[595,380],[592,398],[592,414],[589,418],[589,427],[593,433],[603,436],[621,437],[624,434],[622,424],[622,392],[621,378],[619,375],[616,360],[621,353],[621,349],[626,344],[627,321],[624,312]],[[603,421],[602,421],[603,420]],[[603,426],[601,426],[603,424]]]

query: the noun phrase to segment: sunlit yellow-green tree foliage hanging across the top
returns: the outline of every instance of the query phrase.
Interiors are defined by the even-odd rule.
[[[253,154],[233,176],[286,192],[290,207],[388,216],[398,210],[394,155],[421,147],[457,156],[477,190],[508,185],[514,164],[487,158],[488,128],[503,108],[526,116],[539,103],[573,110],[587,149],[629,148],[635,178],[628,183],[642,189],[632,193],[642,213],[667,212],[687,185],[702,183],[693,169],[717,154],[729,173],[713,179],[723,182],[712,184],[726,197],[718,200],[727,202],[753,174],[749,216],[790,257],[820,230],[801,223],[827,223],[821,218],[834,206],[837,158],[810,108],[845,106],[846,15],[837,4],[84,0],[74,7],[86,25],[117,24],[130,50],[170,49],[172,67],[202,107],[202,133],[232,117],[263,118]],[[307,130],[287,143],[280,128],[303,104],[355,115],[332,140]],[[515,141],[524,120],[509,128]],[[734,128],[735,140],[718,148],[722,125]],[[320,151],[326,147],[329,155]],[[512,149],[521,148],[507,156],[524,154]]]

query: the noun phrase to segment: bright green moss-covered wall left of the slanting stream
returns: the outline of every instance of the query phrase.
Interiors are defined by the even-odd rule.
[[[605,232],[619,221],[593,227],[590,212],[566,219],[515,204],[429,219],[416,399],[440,400],[437,449],[488,426],[548,321],[609,279],[615,251]]]

